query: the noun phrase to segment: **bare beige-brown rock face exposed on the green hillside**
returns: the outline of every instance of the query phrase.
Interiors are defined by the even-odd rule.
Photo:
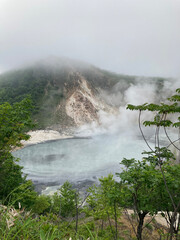
[[[103,110],[105,112],[116,113],[116,109],[109,106],[98,95],[98,90],[92,87],[91,84],[79,72],[72,72],[72,78],[76,79],[76,84],[69,86],[64,84],[66,93],[65,114],[70,117],[75,126],[91,122],[99,122],[98,112]],[[63,106],[60,104],[57,107],[57,114],[61,111]]]

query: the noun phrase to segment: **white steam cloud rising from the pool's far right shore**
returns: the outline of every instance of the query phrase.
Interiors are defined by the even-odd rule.
[[[140,105],[144,103],[160,103],[175,93],[180,81],[169,79],[159,86],[156,79],[146,81],[136,79],[135,83],[127,84],[124,81],[116,84],[110,92],[101,91],[101,98],[117,108],[117,114],[99,111],[99,123],[86,124],[77,131],[79,136],[97,136],[102,134],[130,136],[139,134],[138,112],[127,110],[127,104]],[[150,119],[151,113],[143,112],[141,122]],[[146,134],[152,134],[149,128],[145,128]]]

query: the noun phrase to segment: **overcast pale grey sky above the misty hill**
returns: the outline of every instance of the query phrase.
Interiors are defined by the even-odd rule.
[[[180,77],[180,0],[0,0],[0,72],[49,55]]]

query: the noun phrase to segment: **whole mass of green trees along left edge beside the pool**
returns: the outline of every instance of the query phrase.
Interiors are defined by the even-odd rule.
[[[0,200],[8,204],[15,196],[15,191],[25,192],[32,189],[32,183],[26,182],[22,175],[22,167],[11,151],[20,147],[21,140],[27,140],[28,128],[32,127],[32,104],[29,98],[19,103],[0,105]],[[23,185],[24,184],[24,185]],[[22,185],[22,186],[20,186]],[[12,194],[11,194],[12,193]],[[13,200],[14,201],[14,200]]]

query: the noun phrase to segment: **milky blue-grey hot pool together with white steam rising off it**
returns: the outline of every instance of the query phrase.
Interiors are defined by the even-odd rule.
[[[54,133],[56,141],[32,145],[15,152],[14,155],[21,159],[20,164],[28,178],[36,184],[54,185],[57,188],[66,180],[74,183],[96,182],[101,176],[120,172],[119,163],[123,158],[141,159],[141,153],[148,150],[138,129],[138,113],[126,110],[127,103],[136,105],[145,102],[159,103],[160,98],[163,100],[174,92],[178,83],[167,82],[159,90],[152,81],[148,84],[141,80],[136,85],[130,85],[124,93],[120,91],[112,93],[114,94],[112,101],[119,106],[118,114],[100,111],[99,123],[83,125],[76,130],[75,135],[80,138],[57,140],[60,135]],[[115,102],[119,99],[121,102]],[[110,100],[110,95],[107,95],[106,100]],[[142,122],[150,119],[150,115],[143,113]],[[143,129],[153,146],[154,130]],[[176,137],[174,135],[173,140]],[[46,140],[45,136],[41,135],[40,140]],[[168,144],[163,134],[161,140],[164,145]]]

